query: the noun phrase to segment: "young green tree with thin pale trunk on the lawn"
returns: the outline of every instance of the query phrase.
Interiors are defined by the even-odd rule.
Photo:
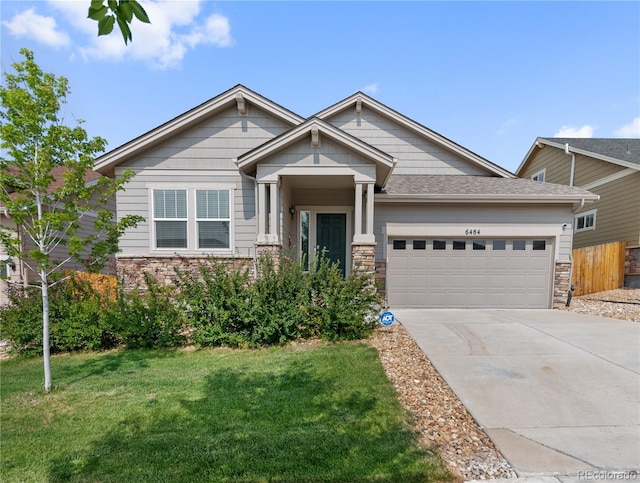
[[[65,125],[67,79],[44,73],[33,52],[22,49],[20,53],[24,61],[12,64],[14,73],[3,73],[6,85],[0,86],[0,206],[15,224],[0,226],[0,244],[37,275],[42,295],[44,388],[48,392],[49,288],[59,281],[52,278],[53,272],[74,259],[88,269],[101,268],[118,251],[124,230],[141,218],[116,221],[107,209],[109,199],[132,173],[114,180],[92,171],[94,158],[106,141],[89,138],[82,121],[73,127]],[[97,179],[87,183],[90,176]],[[94,220],[92,235],[79,235],[83,219]]]

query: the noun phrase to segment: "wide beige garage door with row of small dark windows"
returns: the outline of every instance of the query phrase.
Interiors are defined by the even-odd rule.
[[[391,238],[391,307],[548,308],[548,239]]]

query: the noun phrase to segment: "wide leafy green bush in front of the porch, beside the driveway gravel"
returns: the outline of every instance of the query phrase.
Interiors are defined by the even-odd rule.
[[[178,299],[192,341],[200,346],[286,344],[320,337],[359,339],[375,326],[379,299],[370,277],[345,278],[337,264],[322,259],[317,269],[281,258],[259,260],[258,277],[248,269],[229,270],[210,259],[197,273],[178,271]]]

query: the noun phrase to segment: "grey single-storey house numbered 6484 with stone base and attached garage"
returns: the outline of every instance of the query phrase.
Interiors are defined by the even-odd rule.
[[[391,307],[566,300],[573,210],[597,199],[536,183],[357,92],[309,118],[238,85],[97,159],[136,176],[118,216],[129,287],[219,257],[322,251],[376,273]]]

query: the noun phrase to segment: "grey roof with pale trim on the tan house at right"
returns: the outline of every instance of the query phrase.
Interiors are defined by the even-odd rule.
[[[640,169],[640,139],[638,138],[550,138],[539,137],[516,170],[519,173],[536,148],[551,146],[584,156],[600,159],[627,168]]]

